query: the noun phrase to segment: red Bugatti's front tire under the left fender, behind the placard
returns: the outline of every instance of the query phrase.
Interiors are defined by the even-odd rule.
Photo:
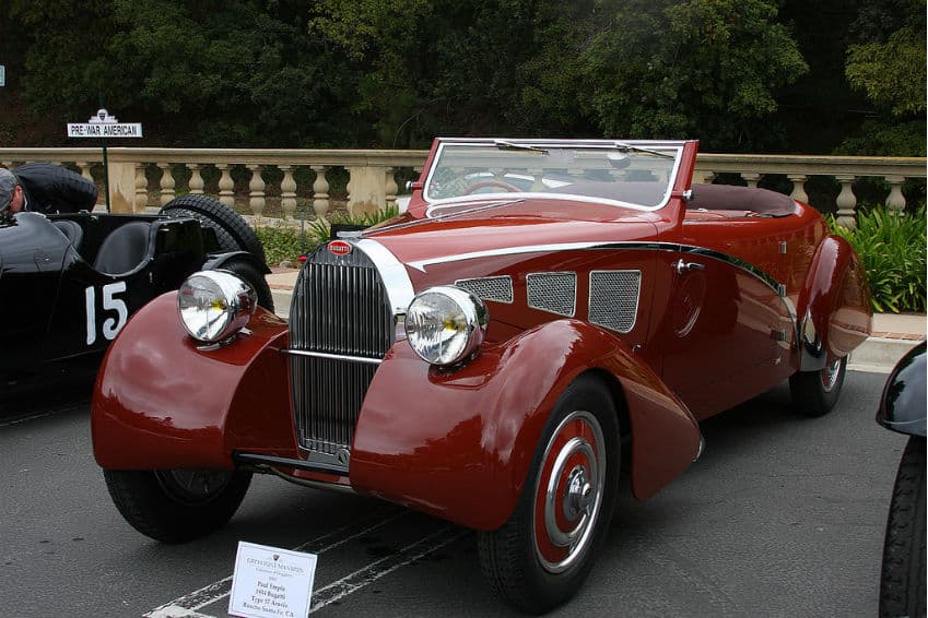
[[[140,533],[184,543],[219,530],[232,519],[251,473],[244,471],[103,472],[119,512]]]

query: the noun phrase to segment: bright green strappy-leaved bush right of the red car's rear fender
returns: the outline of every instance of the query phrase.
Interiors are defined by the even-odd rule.
[[[925,206],[911,215],[885,206],[861,211],[856,229],[837,225],[832,216],[827,219],[833,233],[846,238],[860,255],[874,311],[925,311]]]

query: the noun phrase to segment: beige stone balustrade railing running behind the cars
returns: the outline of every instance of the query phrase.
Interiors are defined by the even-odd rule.
[[[145,212],[150,201],[165,204],[178,192],[175,173],[186,168],[183,192],[208,192],[219,197],[230,207],[246,206],[256,217],[265,212],[266,199],[272,192],[280,199],[284,218],[294,217],[297,193],[309,195],[317,217],[326,218],[331,209],[330,186],[327,174],[336,168],[348,171],[346,206],[357,214],[381,209],[396,202],[398,186],[396,174],[406,170],[409,176],[421,171],[426,151],[396,150],[223,150],[223,148],[129,148],[110,147],[107,151],[109,169],[110,209],[117,213]],[[95,164],[102,163],[99,148],[0,148],[0,164],[14,167],[31,161],[50,161],[72,164],[83,176],[91,174]],[[161,169],[160,178],[150,181],[149,169]],[[238,166],[248,178],[247,191],[236,191],[231,173]],[[212,168],[218,177],[214,186],[205,187],[203,171]],[[298,168],[313,174],[309,187],[299,187],[294,176]],[[247,173],[246,173],[247,170]],[[269,171],[275,174],[267,174]],[[857,197],[855,182],[861,178],[882,179],[889,186],[884,202],[892,209],[905,207],[903,183],[907,179],[926,178],[926,159],[917,157],[857,157],[808,155],[735,155],[700,154],[694,180],[712,182],[718,175],[737,175],[748,186],[756,187],[765,177],[785,177],[791,182],[791,197],[808,201],[806,182],[813,177],[827,176],[841,186],[835,198],[837,218],[854,226]],[[99,174],[97,174],[99,176]],[[281,177],[269,191],[266,176]],[[95,178],[101,182],[101,178]],[[156,185],[153,186],[153,185]],[[246,201],[247,204],[236,203]],[[820,205],[821,207],[821,205]]]

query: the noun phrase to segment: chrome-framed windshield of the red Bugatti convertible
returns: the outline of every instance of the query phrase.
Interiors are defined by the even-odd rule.
[[[426,201],[552,198],[658,209],[670,199],[682,142],[442,141]]]

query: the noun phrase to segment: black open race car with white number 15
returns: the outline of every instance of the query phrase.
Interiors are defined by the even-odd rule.
[[[0,219],[0,403],[95,370],[129,317],[202,270],[231,271],[273,309],[263,248],[235,212],[183,195],[157,215],[23,212]]]

